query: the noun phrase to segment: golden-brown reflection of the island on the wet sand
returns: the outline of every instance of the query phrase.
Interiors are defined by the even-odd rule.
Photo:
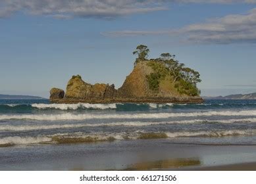
[[[201,161],[198,158],[174,158],[168,160],[157,160],[153,162],[141,162],[132,164],[124,170],[157,170],[199,165],[201,165]]]

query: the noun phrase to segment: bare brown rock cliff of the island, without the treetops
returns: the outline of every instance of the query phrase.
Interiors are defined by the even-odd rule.
[[[160,71],[160,72],[159,72]],[[155,77],[156,76],[156,77]],[[182,81],[174,81],[163,62],[141,60],[126,77],[122,87],[86,83],[80,76],[72,76],[66,86],[51,90],[53,103],[202,103],[199,93],[188,93],[180,88]],[[181,89],[183,91],[181,91]],[[196,89],[197,90],[197,89]],[[59,98],[58,98],[59,97]]]

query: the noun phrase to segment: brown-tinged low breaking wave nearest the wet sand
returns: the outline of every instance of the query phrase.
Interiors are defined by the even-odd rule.
[[[124,139],[172,139],[176,137],[225,137],[240,135],[255,135],[256,129],[226,130],[226,131],[181,131],[181,132],[143,132],[84,134],[68,133],[54,135],[39,135],[38,137],[4,137],[0,139],[0,147],[31,144],[70,144],[70,143],[96,143],[101,141],[115,141]]]

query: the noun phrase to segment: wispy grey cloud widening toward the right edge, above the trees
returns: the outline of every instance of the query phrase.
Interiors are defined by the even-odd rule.
[[[201,24],[191,24],[179,30],[119,31],[105,35],[182,35],[193,43],[256,43],[256,9],[246,14],[232,14]]]

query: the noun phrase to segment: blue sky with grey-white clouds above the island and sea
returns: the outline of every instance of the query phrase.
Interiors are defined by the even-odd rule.
[[[140,44],[197,70],[203,96],[256,92],[256,0],[1,0],[0,94],[49,97],[76,74],[118,88]]]

